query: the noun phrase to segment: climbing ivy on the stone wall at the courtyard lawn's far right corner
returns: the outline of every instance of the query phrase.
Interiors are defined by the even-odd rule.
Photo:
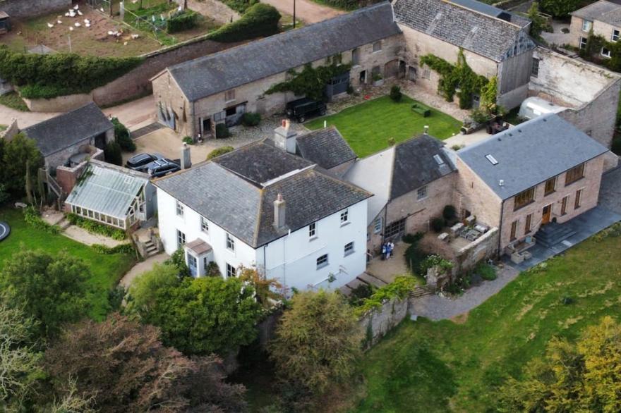
[[[421,57],[421,63],[429,66],[431,70],[440,75],[438,90],[447,101],[453,101],[455,94],[457,94],[461,109],[470,109],[472,107],[472,95],[480,94],[483,87],[489,82],[485,76],[477,75],[468,66],[462,49],[459,49],[457,63],[454,65],[433,54],[426,54]]]

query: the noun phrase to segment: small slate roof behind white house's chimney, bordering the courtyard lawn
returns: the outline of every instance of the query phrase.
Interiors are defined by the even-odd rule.
[[[324,169],[334,168],[356,159],[356,154],[334,126],[313,130],[296,137],[296,142],[304,159]]]

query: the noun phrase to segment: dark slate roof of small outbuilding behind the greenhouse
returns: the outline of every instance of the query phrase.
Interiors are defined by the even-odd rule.
[[[43,156],[49,156],[111,128],[114,125],[104,113],[96,104],[90,103],[32,125],[22,132],[37,142]]]

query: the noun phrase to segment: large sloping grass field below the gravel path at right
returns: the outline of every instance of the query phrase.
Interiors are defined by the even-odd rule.
[[[521,273],[464,323],[406,319],[364,357],[350,411],[493,411],[498,386],[554,335],[573,340],[602,316],[619,318],[620,251],[621,238],[586,240]]]

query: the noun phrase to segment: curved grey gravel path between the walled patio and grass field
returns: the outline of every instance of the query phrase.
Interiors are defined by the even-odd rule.
[[[412,300],[411,313],[438,321],[452,319],[459,314],[469,312],[471,309],[483,304],[489,297],[502,290],[510,281],[519,274],[512,266],[505,266],[498,271],[498,278],[494,281],[483,281],[480,285],[466,290],[463,295],[456,298],[440,297],[440,295],[428,295]]]

